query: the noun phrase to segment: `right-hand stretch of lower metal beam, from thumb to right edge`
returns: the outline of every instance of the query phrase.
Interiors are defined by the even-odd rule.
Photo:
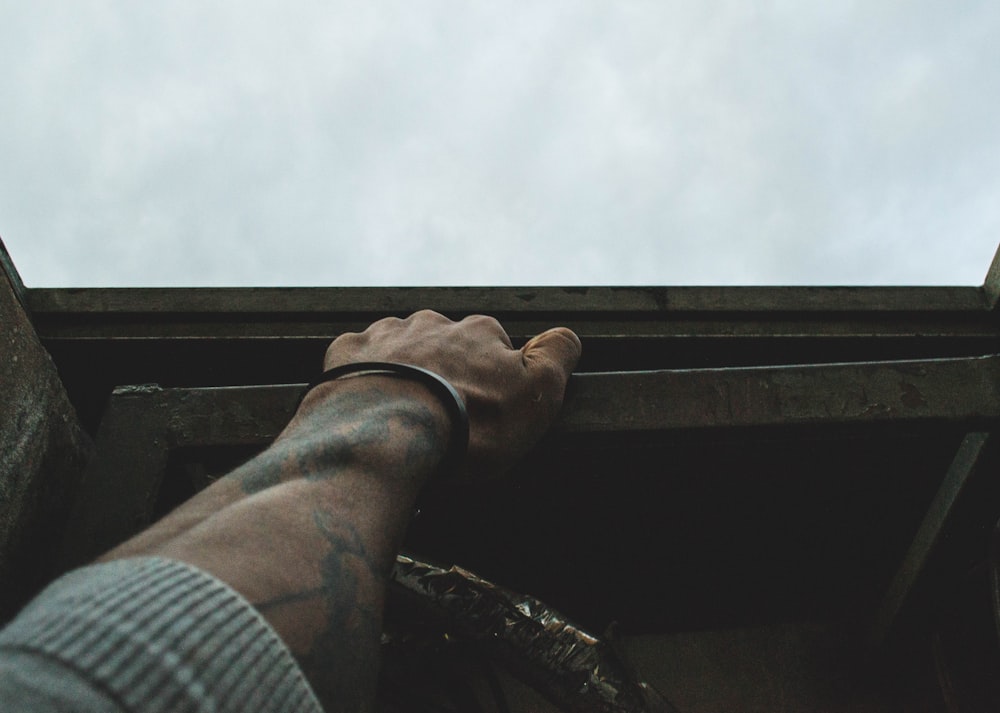
[[[580,374],[570,433],[1000,416],[1000,357]]]

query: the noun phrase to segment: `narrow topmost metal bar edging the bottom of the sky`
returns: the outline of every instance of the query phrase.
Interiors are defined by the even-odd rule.
[[[976,287],[35,288],[41,314],[844,313],[986,311]]]

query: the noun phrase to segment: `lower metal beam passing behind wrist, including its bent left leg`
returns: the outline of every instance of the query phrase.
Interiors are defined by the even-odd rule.
[[[595,436],[656,441],[692,429],[984,424],[1000,418],[998,377],[997,356],[576,374],[548,445]],[[67,564],[149,522],[171,449],[264,446],[288,422],[303,388],[116,390],[71,521]]]

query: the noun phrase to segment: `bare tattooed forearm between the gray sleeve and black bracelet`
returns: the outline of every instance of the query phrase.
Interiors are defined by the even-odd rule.
[[[214,575],[267,618],[329,710],[358,709],[385,581],[448,429],[419,384],[320,386],[271,448],[104,559],[157,555]]]

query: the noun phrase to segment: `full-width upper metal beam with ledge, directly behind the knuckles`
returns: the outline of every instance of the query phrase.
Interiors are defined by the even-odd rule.
[[[485,312],[512,337],[1000,337],[979,288],[33,289],[49,340],[331,338],[424,308]]]

